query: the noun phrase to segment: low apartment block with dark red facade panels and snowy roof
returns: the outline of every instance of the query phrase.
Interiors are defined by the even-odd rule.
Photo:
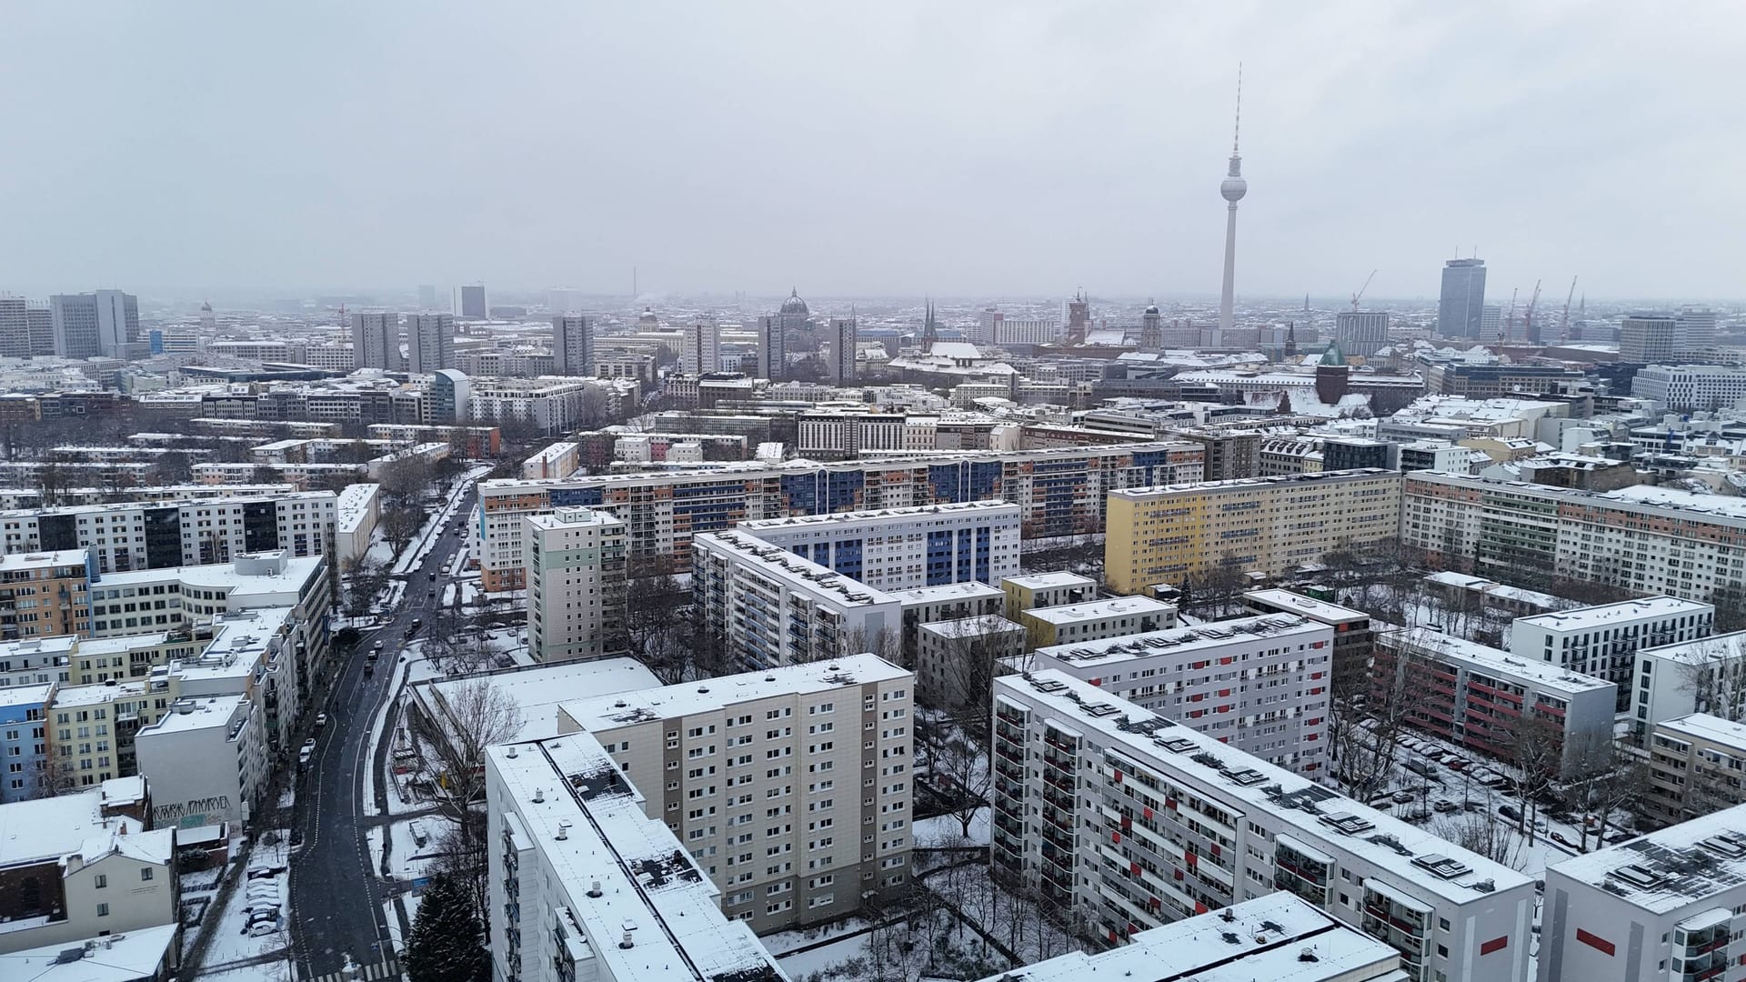
[[[1521,760],[1524,741],[1550,741],[1566,778],[1613,743],[1612,681],[1428,627],[1378,626],[1374,685],[1376,699],[1406,701],[1407,723],[1489,757]]]

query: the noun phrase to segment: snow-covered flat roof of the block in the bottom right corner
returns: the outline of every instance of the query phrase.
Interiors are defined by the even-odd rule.
[[[1652,914],[1746,884],[1746,806],[1671,825],[1547,867]]]

